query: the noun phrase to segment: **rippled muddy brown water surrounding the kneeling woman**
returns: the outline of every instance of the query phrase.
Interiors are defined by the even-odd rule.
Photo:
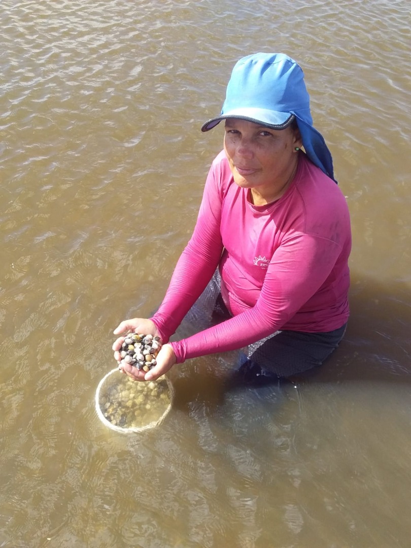
[[[0,546],[411,546],[406,0],[3,0]],[[100,423],[112,330],[161,301],[234,62],[304,67],[352,215],[352,315],[293,385],[175,368],[158,429]]]

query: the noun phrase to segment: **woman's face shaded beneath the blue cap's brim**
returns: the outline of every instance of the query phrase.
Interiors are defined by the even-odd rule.
[[[298,129],[276,130],[239,118],[225,121],[224,150],[236,184],[261,195],[283,188],[295,173]]]

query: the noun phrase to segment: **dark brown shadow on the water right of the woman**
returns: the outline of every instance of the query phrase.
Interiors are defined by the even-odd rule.
[[[321,368],[296,380],[411,383],[409,287],[352,278],[351,316],[343,341]]]

